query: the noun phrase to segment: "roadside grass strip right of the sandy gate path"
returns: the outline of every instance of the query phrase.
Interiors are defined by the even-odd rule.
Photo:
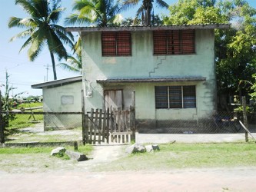
[[[160,151],[131,154],[95,171],[171,170],[183,167],[256,166],[256,144],[161,144]]]

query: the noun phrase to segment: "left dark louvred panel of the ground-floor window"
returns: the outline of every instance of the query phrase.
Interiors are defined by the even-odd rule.
[[[168,87],[155,87],[155,108],[168,108]]]

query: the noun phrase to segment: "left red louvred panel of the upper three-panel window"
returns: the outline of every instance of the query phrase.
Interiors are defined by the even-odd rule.
[[[154,55],[167,54],[166,31],[153,31]]]

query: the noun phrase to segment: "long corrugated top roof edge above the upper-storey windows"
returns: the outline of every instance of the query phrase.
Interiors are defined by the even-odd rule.
[[[230,28],[230,24],[210,23],[197,25],[161,25],[161,26],[123,26],[123,27],[67,27],[66,31],[93,32],[93,31],[157,31],[181,29],[214,29]]]

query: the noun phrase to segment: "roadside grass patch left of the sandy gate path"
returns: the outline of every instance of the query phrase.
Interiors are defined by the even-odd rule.
[[[41,173],[47,171],[73,170],[78,162],[64,157],[53,157],[51,151],[55,147],[6,147],[0,148],[0,171],[12,174]],[[65,146],[67,150],[74,147]],[[89,145],[78,146],[78,151],[90,154]]]

